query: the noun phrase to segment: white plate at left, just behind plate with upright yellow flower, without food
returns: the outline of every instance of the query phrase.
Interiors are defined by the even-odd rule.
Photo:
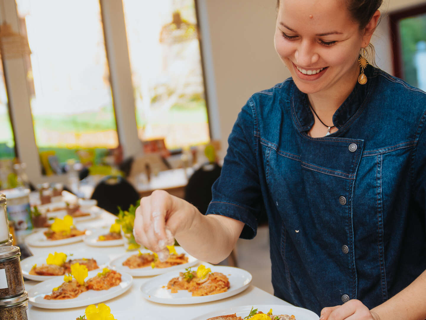
[[[55,253],[55,250],[52,250],[51,253]],[[109,259],[105,255],[101,254],[92,254],[92,253],[84,253],[82,251],[80,252],[66,252],[66,261],[69,259],[95,259],[96,263],[99,266],[99,269],[102,269],[107,266]],[[46,256],[30,256],[26,259],[23,259],[21,261],[21,269],[22,274],[26,279],[35,280],[35,281],[44,281],[52,278],[63,278],[63,276],[39,276],[34,274],[29,274],[29,271],[32,269],[32,266],[37,265],[43,265],[46,264],[47,256],[49,256],[49,253],[46,253]],[[98,269],[96,269],[98,270]]]

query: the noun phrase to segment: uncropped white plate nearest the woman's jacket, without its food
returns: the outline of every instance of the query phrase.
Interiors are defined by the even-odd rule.
[[[141,286],[142,296],[154,302],[171,305],[204,303],[232,297],[244,291],[250,285],[252,276],[248,271],[225,266],[211,266],[210,268],[213,272],[221,272],[228,277],[230,283],[228,291],[210,296],[192,297],[192,294],[186,290],[179,290],[172,294],[170,289],[162,288],[167,286],[170,279],[179,276],[179,271],[184,272],[184,269],[181,269],[161,274],[145,282]]]

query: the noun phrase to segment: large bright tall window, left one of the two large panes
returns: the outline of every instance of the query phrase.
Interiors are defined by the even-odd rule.
[[[77,150],[99,157],[117,147],[99,1],[16,2],[32,51],[27,79],[40,155],[65,162]]]

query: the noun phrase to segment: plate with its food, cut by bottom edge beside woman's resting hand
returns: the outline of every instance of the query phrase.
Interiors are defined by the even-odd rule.
[[[262,311],[268,312],[265,314]],[[317,314],[308,309],[291,305],[245,305],[211,311],[192,320],[318,320],[318,318]]]

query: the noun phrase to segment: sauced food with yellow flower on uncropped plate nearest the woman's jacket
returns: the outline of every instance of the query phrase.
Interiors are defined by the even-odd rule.
[[[171,293],[187,290],[193,297],[223,293],[228,290],[229,286],[229,279],[225,274],[211,272],[211,269],[204,265],[200,265],[197,271],[187,268],[185,272],[179,273],[178,277],[167,283],[167,289],[171,289]]]

